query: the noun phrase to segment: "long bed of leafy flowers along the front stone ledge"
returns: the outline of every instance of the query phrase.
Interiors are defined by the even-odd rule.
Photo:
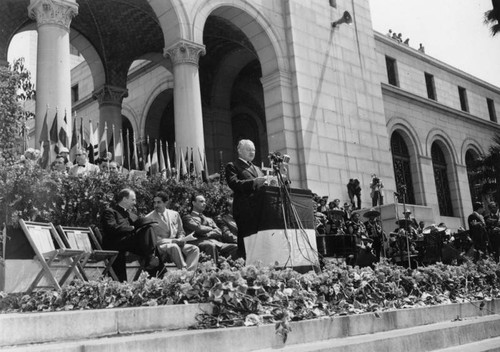
[[[142,275],[132,283],[109,279],[74,281],[61,292],[1,294],[0,310],[67,311],[210,302],[193,328],[276,323],[284,337],[288,322],[462,303],[499,297],[500,266],[490,260],[405,269],[380,263],[374,269],[326,263],[319,274],[292,269],[203,262],[196,272],[171,271],[162,279]],[[481,307],[480,307],[481,308]]]

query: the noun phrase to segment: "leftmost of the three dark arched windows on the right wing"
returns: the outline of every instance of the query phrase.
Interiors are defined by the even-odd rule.
[[[398,132],[391,137],[392,163],[394,164],[394,177],[396,178],[396,189],[398,202],[415,204],[413,182],[410,169],[410,153],[406,143]]]

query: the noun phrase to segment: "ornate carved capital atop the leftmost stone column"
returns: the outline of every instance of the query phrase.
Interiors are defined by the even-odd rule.
[[[53,24],[69,31],[71,20],[78,15],[78,4],[69,0],[31,0],[28,14],[38,27]]]

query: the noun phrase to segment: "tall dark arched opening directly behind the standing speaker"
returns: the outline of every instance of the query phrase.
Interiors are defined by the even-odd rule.
[[[235,146],[242,138],[254,142],[255,162],[260,164],[268,145],[256,50],[243,31],[218,11],[205,22],[203,43],[207,55],[200,58],[200,85],[209,170],[236,158]],[[220,155],[224,160],[219,160]]]

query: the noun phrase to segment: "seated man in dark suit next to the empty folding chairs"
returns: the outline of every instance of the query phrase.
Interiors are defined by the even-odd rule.
[[[156,269],[160,261],[154,255],[156,235],[153,227],[131,211],[136,202],[135,192],[125,188],[118,193],[115,201],[116,204],[108,207],[101,215],[104,230],[102,244],[104,249],[119,251],[113,269],[120,281],[126,281],[126,252],[141,256],[148,271]]]

